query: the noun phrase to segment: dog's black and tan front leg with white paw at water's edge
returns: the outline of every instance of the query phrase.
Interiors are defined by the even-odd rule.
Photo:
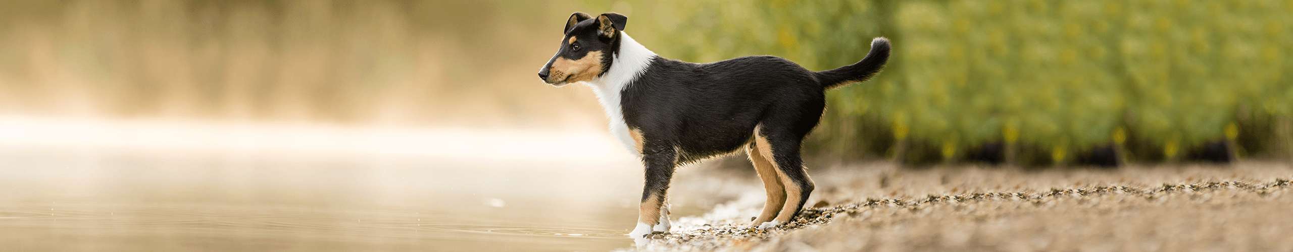
[[[672,147],[652,147],[643,150],[643,164],[646,169],[643,184],[641,205],[637,208],[637,226],[628,233],[636,242],[645,242],[652,231],[668,231],[668,182],[674,177],[678,151]]]

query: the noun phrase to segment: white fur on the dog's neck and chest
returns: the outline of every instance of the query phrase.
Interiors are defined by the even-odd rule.
[[[623,31],[619,32],[619,53],[614,54],[610,68],[599,78],[584,81],[592,92],[597,94],[601,109],[606,110],[610,118],[610,133],[619,138],[626,147],[636,151],[634,140],[628,136],[628,125],[625,124],[623,109],[619,107],[619,93],[628,88],[628,83],[637,79],[646,67],[650,66],[656,53],[637,44],[634,37]]]

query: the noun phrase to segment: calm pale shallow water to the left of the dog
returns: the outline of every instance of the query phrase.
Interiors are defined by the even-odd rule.
[[[347,150],[436,151],[446,143],[422,142],[447,141],[434,136],[341,131],[287,141],[217,128],[78,143],[50,138],[173,127],[0,127],[26,131],[0,143],[5,251],[606,251],[632,244],[625,234],[636,220],[641,185],[632,158],[608,152],[618,146],[601,138],[553,145],[588,149],[566,155],[508,155],[546,140],[535,138],[473,156]],[[186,134],[207,138],[185,143],[197,138]],[[454,141],[472,141],[471,134]],[[309,137],[335,140],[308,150],[279,146]],[[253,149],[209,147],[230,141]],[[453,145],[469,151],[462,150],[465,142]]]

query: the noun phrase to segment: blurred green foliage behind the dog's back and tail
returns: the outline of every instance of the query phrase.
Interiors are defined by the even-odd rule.
[[[1293,156],[1293,1],[773,0],[590,3],[690,62],[811,70],[893,41],[830,92],[809,149],[908,163],[1108,164]],[[1221,155],[1218,158],[1217,155]]]

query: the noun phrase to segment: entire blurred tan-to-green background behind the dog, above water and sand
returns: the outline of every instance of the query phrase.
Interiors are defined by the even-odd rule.
[[[815,156],[1293,158],[1290,0],[0,1],[0,114],[601,129],[533,74],[575,10],[690,62],[826,70],[892,39],[828,93]]]

